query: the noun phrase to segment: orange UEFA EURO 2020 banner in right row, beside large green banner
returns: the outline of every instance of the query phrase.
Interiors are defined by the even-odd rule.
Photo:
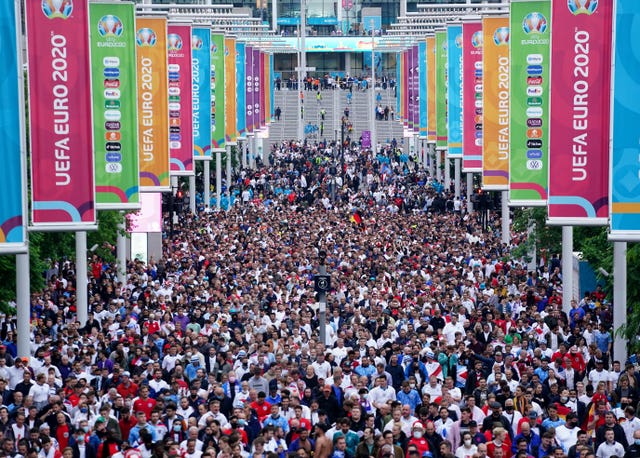
[[[482,187],[509,189],[509,17],[482,19]]]

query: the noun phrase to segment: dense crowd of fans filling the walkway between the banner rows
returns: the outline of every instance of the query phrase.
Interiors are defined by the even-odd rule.
[[[288,142],[233,187],[126,282],[94,257],[84,325],[54,262],[30,357],[3,317],[0,457],[640,456],[602,291],[563,311],[560,260],[529,271],[414,158]]]

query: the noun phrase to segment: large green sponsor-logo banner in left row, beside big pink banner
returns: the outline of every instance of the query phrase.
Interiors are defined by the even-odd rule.
[[[135,6],[90,3],[96,207],[139,208]]]

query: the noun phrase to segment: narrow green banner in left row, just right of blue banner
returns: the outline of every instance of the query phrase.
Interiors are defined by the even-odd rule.
[[[225,150],[224,35],[211,34],[211,151]]]

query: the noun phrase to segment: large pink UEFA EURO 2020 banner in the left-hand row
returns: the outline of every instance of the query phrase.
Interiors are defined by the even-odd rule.
[[[96,221],[87,3],[26,2],[34,226]]]

